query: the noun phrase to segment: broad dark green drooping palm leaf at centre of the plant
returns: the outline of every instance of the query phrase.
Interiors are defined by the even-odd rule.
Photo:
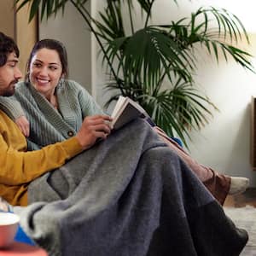
[[[132,37],[108,42],[107,52],[114,62],[119,60],[119,71],[127,81],[139,79],[143,84],[157,84],[165,73],[177,73],[191,81],[193,60],[165,31],[149,26],[137,31]],[[114,65],[114,64],[113,64]],[[122,67],[122,68],[121,68]]]

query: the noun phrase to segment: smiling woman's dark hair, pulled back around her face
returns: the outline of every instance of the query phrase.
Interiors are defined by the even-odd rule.
[[[28,80],[28,74],[29,74],[29,67],[32,61],[32,58],[34,55],[37,54],[39,49],[55,49],[55,51],[58,53],[60,60],[61,60],[61,66],[62,66],[62,74],[64,74],[65,79],[68,77],[68,64],[67,64],[67,50],[60,41],[55,39],[42,39],[36,43],[32,49],[32,52],[29,56],[29,59],[26,63],[26,80]]]

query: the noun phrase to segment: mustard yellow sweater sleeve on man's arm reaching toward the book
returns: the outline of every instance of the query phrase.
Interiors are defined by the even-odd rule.
[[[10,147],[0,136],[0,183],[20,185],[62,166],[82,152],[76,137],[35,151],[21,152]]]

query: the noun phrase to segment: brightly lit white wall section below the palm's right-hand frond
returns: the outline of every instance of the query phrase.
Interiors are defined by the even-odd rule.
[[[254,40],[254,45],[256,41]],[[251,51],[253,52],[253,50]],[[218,107],[209,125],[192,132],[191,154],[201,163],[256,186],[250,166],[250,101],[256,96],[256,75],[230,61],[202,62],[196,78]]]

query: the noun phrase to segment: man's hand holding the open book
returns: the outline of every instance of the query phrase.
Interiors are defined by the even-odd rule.
[[[84,119],[76,137],[81,146],[86,149],[96,143],[98,138],[105,139],[111,132],[109,122],[112,118],[108,115],[93,115]]]

